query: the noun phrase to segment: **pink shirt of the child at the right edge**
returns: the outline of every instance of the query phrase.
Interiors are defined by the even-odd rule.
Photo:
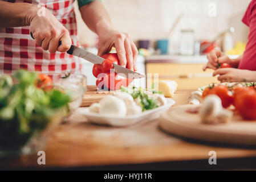
[[[256,0],[251,1],[242,22],[250,28],[250,32],[246,49],[238,68],[256,71]]]

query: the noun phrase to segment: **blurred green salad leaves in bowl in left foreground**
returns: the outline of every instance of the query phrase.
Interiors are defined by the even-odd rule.
[[[19,150],[60,109],[68,108],[71,97],[58,89],[37,88],[36,76],[19,70],[0,77],[0,150]]]

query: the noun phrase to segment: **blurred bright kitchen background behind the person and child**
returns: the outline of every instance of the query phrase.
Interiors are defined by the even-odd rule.
[[[130,34],[140,56],[139,72],[176,80],[179,89],[217,82],[202,72],[205,54],[219,48],[237,57],[245,49],[249,28],[241,22],[250,0],[101,0],[119,30]],[[80,44],[97,53],[97,36],[76,7]],[[96,79],[86,65],[88,84]],[[136,80],[137,81],[137,80]],[[135,83],[145,86],[146,81]],[[148,83],[149,85],[149,83]]]

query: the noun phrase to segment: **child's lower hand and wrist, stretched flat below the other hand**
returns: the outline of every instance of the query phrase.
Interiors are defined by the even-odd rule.
[[[251,82],[256,80],[256,71],[245,69],[220,68],[213,73],[213,76],[216,75],[220,75],[218,80],[221,82]]]

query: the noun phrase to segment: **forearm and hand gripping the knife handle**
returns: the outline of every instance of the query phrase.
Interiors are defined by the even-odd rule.
[[[68,30],[49,10],[45,9],[46,16],[38,16],[38,10],[37,5],[31,3],[0,1],[0,27],[30,26],[36,44],[44,50],[51,53],[68,51],[71,47]],[[62,42],[60,46],[59,41]]]

